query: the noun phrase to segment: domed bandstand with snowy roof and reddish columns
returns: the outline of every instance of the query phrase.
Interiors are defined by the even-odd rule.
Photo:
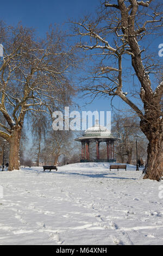
[[[75,141],[82,143],[82,159],[80,162],[90,161],[90,143],[96,143],[96,162],[116,162],[114,142],[120,138],[111,135],[106,127],[96,124],[88,128],[82,137],[76,138]],[[99,145],[101,142],[106,142],[107,159],[100,158]]]

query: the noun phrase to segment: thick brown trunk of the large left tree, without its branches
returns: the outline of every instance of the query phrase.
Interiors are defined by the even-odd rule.
[[[9,168],[8,170],[20,169],[20,139],[21,139],[21,126],[15,126],[12,137],[9,140],[10,153],[9,153]]]

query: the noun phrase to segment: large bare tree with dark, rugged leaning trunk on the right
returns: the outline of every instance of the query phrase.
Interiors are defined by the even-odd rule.
[[[91,50],[92,58],[95,57],[93,72],[89,76],[93,80],[92,86],[84,89],[93,97],[118,96],[138,115],[140,128],[149,141],[143,178],[158,181],[163,170],[163,81],[161,76],[159,84],[155,84],[151,73],[158,70],[159,60],[148,56],[148,52],[146,55],[147,49],[143,45],[147,46],[152,34],[155,37],[162,34],[162,3],[159,2],[105,1],[93,20],[85,17],[81,22],[73,22],[74,34],[80,36],[77,47]],[[128,66],[134,72],[137,86],[129,81]],[[130,84],[124,79],[126,73]],[[135,100],[133,94],[139,99]]]

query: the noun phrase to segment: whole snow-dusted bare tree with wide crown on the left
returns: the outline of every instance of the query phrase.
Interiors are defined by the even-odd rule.
[[[20,139],[28,112],[52,114],[60,102],[70,101],[68,68],[73,52],[66,36],[50,28],[45,39],[35,40],[33,29],[0,24],[4,57],[0,64],[0,136],[10,144],[9,170],[20,168]]]

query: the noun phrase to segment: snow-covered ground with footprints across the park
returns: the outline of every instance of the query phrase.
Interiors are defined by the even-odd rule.
[[[135,169],[77,163],[0,172],[0,245],[162,245],[162,181]]]

